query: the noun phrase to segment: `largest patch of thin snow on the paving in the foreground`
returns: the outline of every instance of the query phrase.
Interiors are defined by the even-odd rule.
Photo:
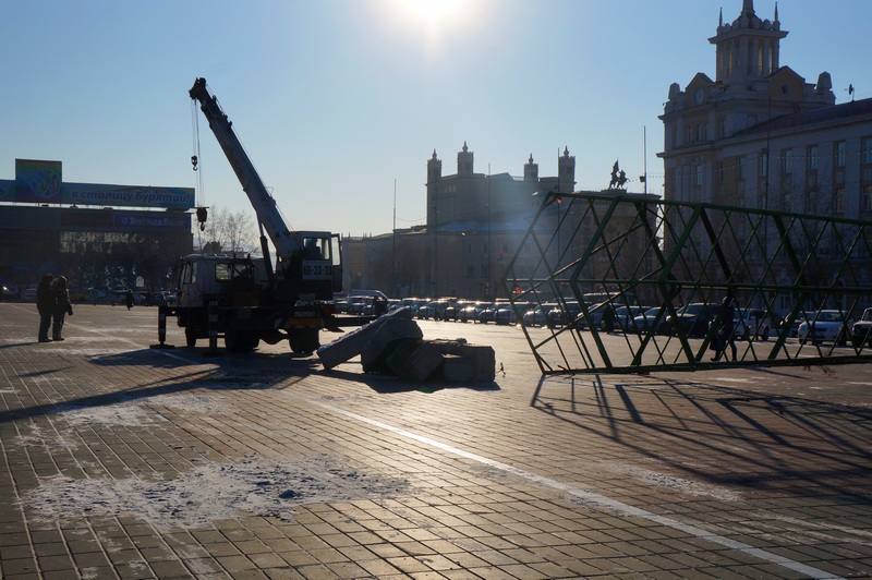
[[[378,500],[409,487],[404,479],[364,473],[325,455],[281,463],[250,456],[157,481],[53,476],[22,502],[47,521],[132,513],[157,527],[201,527],[242,515],[291,520],[294,506]]]

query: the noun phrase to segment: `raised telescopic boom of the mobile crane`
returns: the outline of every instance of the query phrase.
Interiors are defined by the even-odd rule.
[[[194,86],[189,92],[193,100],[199,102],[199,108],[206,120],[209,122],[209,129],[215,133],[218,144],[230,161],[230,167],[237,174],[242,190],[249,196],[249,201],[254,207],[257,215],[257,220],[262,223],[276,247],[276,252],[282,259],[288,259],[293,253],[299,253],[303,249],[301,235],[292,232],[281,213],[276,206],[276,200],[269,194],[264,185],[261,176],[254,168],[254,164],[249,158],[242,143],[233,132],[233,123],[227,118],[220,106],[218,99],[209,94],[206,88],[206,80],[197,78]]]

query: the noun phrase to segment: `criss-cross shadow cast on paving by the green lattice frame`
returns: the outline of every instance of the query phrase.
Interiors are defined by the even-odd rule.
[[[653,377],[572,377],[541,390],[533,408],[579,438],[594,435],[701,480],[872,503],[870,409]]]

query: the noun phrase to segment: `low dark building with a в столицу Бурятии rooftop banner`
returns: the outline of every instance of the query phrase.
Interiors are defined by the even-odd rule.
[[[159,283],[193,246],[194,190],[68,183],[60,161],[17,159],[0,180],[0,281],[21,287],[45,273],[75,290],[107,279]]]

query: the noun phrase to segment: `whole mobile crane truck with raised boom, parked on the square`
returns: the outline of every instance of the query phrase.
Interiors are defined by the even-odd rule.
[[[340,322],[334,293],[342,289],[341,240],[327,231],[291,231],[267,191],[216,97],[197,78],[189,92],[199,102],[230,166],[254,207],[261,231],[263,258],[235,254],[191,254],[173,271],[175,304],[160,306],[158,335],[165,346],[166,318],[174,316],[184,328],[185,342],[223,337],[228,351],[246,352],[261,340],[276,345],[288,340],[291,351],[312,353],[319,347],[323,328],[366,321]],[[205,210],[198,219],[205,221]],[[266,234],[265,234],[266,232]],[[270,262],[266,235],[276,249]],[[372,318],[370,318],[372,319]]]

